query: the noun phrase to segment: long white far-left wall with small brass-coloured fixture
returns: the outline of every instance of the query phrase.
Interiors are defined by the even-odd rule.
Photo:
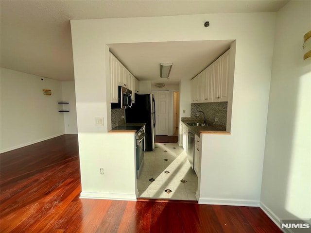
[[[1,152],[65,133],[61,82],[6,68],[1,69]],[[43,79],[43,80],[41,80]],[[52,95],[43,95],[51,89]]]

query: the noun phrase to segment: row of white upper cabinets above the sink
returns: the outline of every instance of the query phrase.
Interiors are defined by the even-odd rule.
[[[228,101],[230,50],[191,80],[191,103]]]

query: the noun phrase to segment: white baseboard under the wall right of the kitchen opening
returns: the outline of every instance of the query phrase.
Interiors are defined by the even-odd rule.
[[[199,204],[207,204],[207,205],[233,205],[233,206],[259,207],[259,200],[216,199],[216,198],[199,198],[198,200]]]

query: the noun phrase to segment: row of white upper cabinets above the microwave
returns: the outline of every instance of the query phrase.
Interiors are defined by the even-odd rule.
[[[118,86],[124,86],[132,91],[133,102],[134,93],[138,93],[139,81],[128,71],[126,67],[110,52],[110,83],[111,83],[111,102],[117,103],[119,100]]]

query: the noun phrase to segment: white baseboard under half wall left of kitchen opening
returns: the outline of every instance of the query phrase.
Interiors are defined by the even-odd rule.
[[[81,199],[137,200],[136,194],[81,192]]]

